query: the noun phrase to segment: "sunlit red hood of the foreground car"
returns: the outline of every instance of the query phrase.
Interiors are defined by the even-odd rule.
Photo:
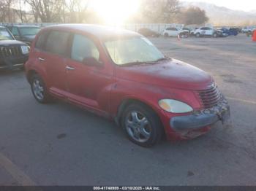
[[[186,90],[204,90],[213,82],[205,71],[175,59],[155,64],[117,66],[116,77]]]

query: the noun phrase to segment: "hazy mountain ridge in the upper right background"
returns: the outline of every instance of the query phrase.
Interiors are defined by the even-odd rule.
[[[206,2],[181,1],[182,7],[200,7],[214,26],[256,26],[256,9],[250,12],[219,7]]]

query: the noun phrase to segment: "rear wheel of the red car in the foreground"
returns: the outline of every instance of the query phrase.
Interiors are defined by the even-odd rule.
[[[39,102],[39,104],[48,104],[53,101],[53,98],[48,93],[48,90],[43,82],[42,78],[38,74],[34,74],[30,80],[31,91],[34,98]]]

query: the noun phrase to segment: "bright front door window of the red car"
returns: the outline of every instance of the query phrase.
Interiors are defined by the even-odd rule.
[[[84,58],[95,58],[99,61],[99,50],[94,42],[86,36],[75,34],[71,50],[71,58],[83,62]]]

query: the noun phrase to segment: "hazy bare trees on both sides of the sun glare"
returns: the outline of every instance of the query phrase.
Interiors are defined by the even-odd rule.
[[[1,0],[0,23],[102,23],[91,0]],[[140,0],[138,14],[127,23],[203,24],[206,12],[182,7],[178,0]]]

